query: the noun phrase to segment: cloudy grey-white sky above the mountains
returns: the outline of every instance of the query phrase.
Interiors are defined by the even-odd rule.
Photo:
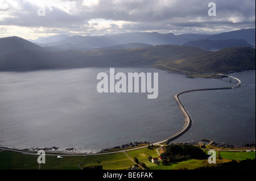
[[[216,16],[208,14],[210,2]],[[255,0],[0,0],[0,37],[178,35],[245,28],[255,28]]]

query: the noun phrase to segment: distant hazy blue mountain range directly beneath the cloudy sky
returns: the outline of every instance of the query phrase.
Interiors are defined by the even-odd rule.
[[[76,48],[101,48],[101,47],[113,47],[120,44],[129,43],[143,43],[150,45],[182,45],[188,41],[197,40],[240,40],[247,41],[248,44],[255,45],[255,28],[237,30],[231,32],[219,33],[216,35],[199,35],[199,34],[181,34],[174,35],[173,33],[161,34],[158,32],[133,32],[133,33],[121,33],[116,35],[105,36],[68,36],[68,35],[56,35],[47,37],[39,41],[33,41],[34,43],[41,45],[42,47],[52,47],[61,49],[61,47],[73,47]],[[59,41],[57,41],[59,40]],[[76,47],[76,48],[75,48]],[[221,49],[221,48],[219,48]]]

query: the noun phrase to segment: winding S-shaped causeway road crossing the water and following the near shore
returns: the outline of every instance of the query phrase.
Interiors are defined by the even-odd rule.
[[[156,65],[162,65],[162,64],[156,64]],[[162,65],[162,66],[165,66],[166,68],[170,68],[170,69],[175,69],[175,68],[171,68],[171,67],[168,67],[166,65]],[[179,69],[175,69],[175,70],[179,70]],[[183,71],[183,70],[179,70],[179,71]],[[188,72],[188,71],[184,71],[184,72]],[[209,74],[208,74],[209,75]],[[213,74],[212,74],[213,75]],[[215,75],[220,75],[220,76],[225,76],[225,77],[229,77],[230,79],[235,79],[237,81],[237,84],[236,85],[233,85],[233,86],[229,86],[229,87],[219,87],[219,88],[210,88],[210,89],[195,89],[195,90],[187,90],[187,91],[183,91],[183,92],[179,92],[177,93],[175,96],[174,96],[174,99],[176,100],[176,103],[177,105],[179,106],[180,108],[180,111],[183,113],[183,116],[184,116],[184,127],[177,133],[175,133],[174,135],[172,135],[171,137],[168,137],[167,139],[165,140],[162,140],[162,141],[157,141],[157,142],[153,142],[152,145],[160,145],[160,144],[163,144],[164,142],[170,142],[172,140],[175,140],[177,137],[180,137],[182,134],[184,134],[185,132],[188,131],[188,129],[191,127],[191,116],[189,115],[189,113],[187,112],[187,110],[185,110],[185,107],[183,106],[183,104],[181,103],[180,101],[180,98],[179,96],[181,94],[185,94],[185,93],[189,93],[189,92],[195,92],[195,91],[206,91],[206,90],[223,90],[223,89],[234,89],[236,87],[239,87],[241,86],[241,81],[240,79],[238,78],[235,78],[235,77],[232,77],[230,75],[226,75],[226,74],[215,74]],[[160,145],[159,148],[162,148],[163,145]],[[96,153],[96,154],[46,154],[46,155],[62,155],[62,156],[86,156],[86,155],[103,155],[103,154],[113,154],[113,153],[121,153],[121,152],[124,152],[125,151],[131,151],[131,150],[137,150],[137,149],[141,149],[141,148],[146,148],[147,146],[142,146],[142,147],[139,147],[139,148],[133,148],[133,149],[128,149],[128,150],[121,150],[121,151],[113,151],[113,152],[109,152],[109,153]],[[159,149],[158,148],[158,149]],[[28,152],[28,151],[22,151],[22,150],[16,150],[16,149],[8,149],[8,148],[0,148],[2,150],[9,150],[9,151],[16,151],[16,152],[19,152],[19,153],[23,153],[23,154],[30,154],[30,155],[37,155],[36,153],[31,153],[31,152]],[[156,149],[157,153],[159,154],[159,151],[158,149]],[[125,153],[126,154],[126,153]],[[160,154],[159,154],[160,155]]]

